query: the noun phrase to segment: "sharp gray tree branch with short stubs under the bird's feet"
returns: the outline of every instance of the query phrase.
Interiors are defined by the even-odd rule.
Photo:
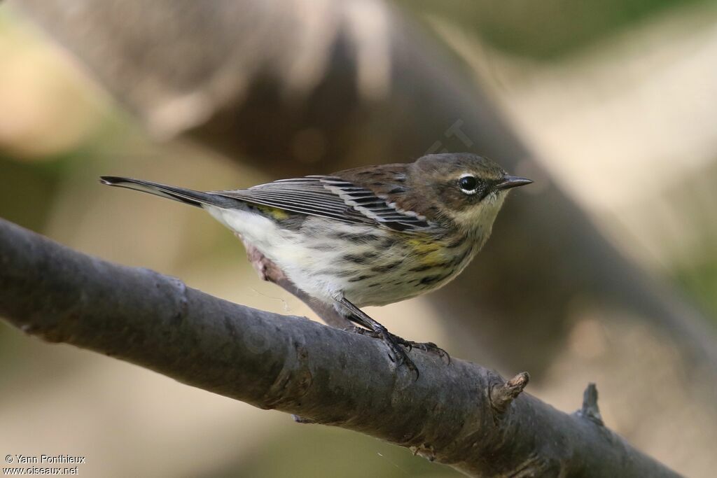
[[[0,220],[0,315],[48,342],[136,363],[191,386],[407,446],[472,476],[675,477],[602,426],[473,363],[383,345],[302,317],[232,304]]]

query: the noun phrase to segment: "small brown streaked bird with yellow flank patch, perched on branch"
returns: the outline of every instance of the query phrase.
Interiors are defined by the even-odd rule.
[[[445,352],[389,333],[360,307],[399,302],[450,282],[488,240],[508,190],[532,182],[472,153],[230,191],[116,176],[101,181],[205,209],[298,289],[361,326],[353,330],[383,340],[394,362],[417,375],[405,348]]]

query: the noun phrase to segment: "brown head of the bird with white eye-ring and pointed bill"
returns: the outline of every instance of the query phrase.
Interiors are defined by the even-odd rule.
[[[427,215],[449,219],[465,231],[490,231],[508,191],[533,182],[510,176],[490,159],[472,153],[423,156],[409,166],[407,176],[417,209],[433,207]]]

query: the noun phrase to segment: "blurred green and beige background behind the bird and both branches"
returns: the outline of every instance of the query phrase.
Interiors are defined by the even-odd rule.
[[[397,5],[465,60],[622,252],[717,320],[716,2]],[[260,282],[239,242],[209,216],[97,181],[118,174],[222,189],[272,178],[190,144],[154,142],[74,60],[3,6],[0,65],[1,217],[213,295],[310,315]],[[431,337],[450,350],[440,317],[421,300],[371,313],[391,317],[399,335]],[[607,353],[595,347],[582,350]],[[171,477],[457,475],[397,446],[293,424],[133,365],[44,345],[4,324],[0,363],[0,451],[85,454],[85,476],[138,469]],[[531,391],[567,411],[579,406],[550,383]],[[609,407],[606,415],[627,433],[610,421]],[[637,445],[708,476],[688,450],[640,442],[639,434]]]

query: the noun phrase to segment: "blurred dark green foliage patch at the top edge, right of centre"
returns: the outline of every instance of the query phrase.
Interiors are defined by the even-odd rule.
[[[508,54],[556,59],[670,8],[706,0],[397,0]]]

